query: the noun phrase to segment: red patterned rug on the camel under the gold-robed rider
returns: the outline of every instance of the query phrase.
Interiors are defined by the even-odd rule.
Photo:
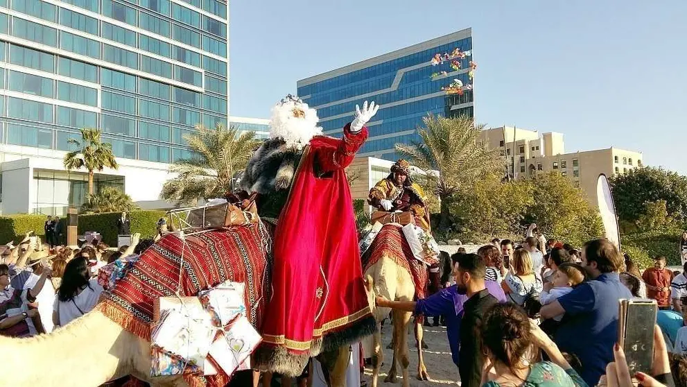
[[[415,284],[415,297],[425,298],[428,280],[427,267],[412,255],[412,250],[410,250],[410,245],[408,245],[401,227],[388,224],[379,230],[379,234],[362,257],[365,268],[363,272],[376,264],[381,257],[393,259],[397,265],[408,270],[412,282]]]

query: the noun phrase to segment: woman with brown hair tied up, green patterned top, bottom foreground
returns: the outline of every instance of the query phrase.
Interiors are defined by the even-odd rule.
[[[556,344],[515,304],[489,309],[481,336],[487,353],[482,386],[587,387]],[[537,361],[538,348],[551,360]]]

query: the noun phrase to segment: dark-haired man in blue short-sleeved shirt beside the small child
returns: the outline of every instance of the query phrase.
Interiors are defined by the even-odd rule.
[[[580,376],[589,386],[595,386],[606,373],[606,365],[614,361],[618,300],[632,298],[632,294],[618,275],[624,266],[623,255],[607,239],[584,245],[582,266],[592,280],[541,307],[540,313],[542,318],[565,313],[555,342],[562,352],[577,355],[582,363]]]

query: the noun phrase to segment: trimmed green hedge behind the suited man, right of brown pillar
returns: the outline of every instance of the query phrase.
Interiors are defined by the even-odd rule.
[[[117,246],[117,219],[120,212],[101,212],[100,214],[79,215],[79,235],[87,231],[96,231],[103,236],[103,242],[110,246]],[[150,238],[157,232],[159,218],[165,216],[164,211],[132,211],[129,213],[131,233],[141,233],[141,239]]]

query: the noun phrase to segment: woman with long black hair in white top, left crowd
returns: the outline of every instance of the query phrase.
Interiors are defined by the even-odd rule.
[[[55,299],[53,323],[64,326],[83,316],[98,303],[103,286],[98,278],[91,279],[88,261],[77,257],[67,263],[62,275],[62,284]]]

